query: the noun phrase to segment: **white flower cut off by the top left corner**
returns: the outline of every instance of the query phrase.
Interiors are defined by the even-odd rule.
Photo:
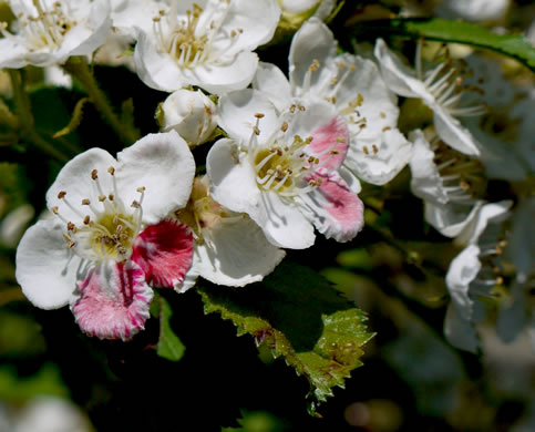
[[[0,31],[0,69],[63,64],[102,45],[112,21],[106,0],[12,0],[17,32]]]

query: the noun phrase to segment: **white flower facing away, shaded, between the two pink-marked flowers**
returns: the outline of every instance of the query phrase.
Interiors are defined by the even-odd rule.
[[[176,217],[195,237],[192,268],[181,291],[192,287],[197,276],[232,287],[260,281],[286,255],[266,239],[249,216],[216,203],[207,176],[194,179],[188,204]]]

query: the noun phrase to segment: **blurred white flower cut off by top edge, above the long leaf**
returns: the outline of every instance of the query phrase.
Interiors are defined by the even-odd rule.
[[[442,0],[435,9],[438,17],[462,18],[469,21],[503,20],[511,0]]]

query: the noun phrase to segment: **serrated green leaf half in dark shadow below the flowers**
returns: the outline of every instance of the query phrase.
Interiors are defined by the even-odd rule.
[[[261,284],[230,289],[208,282],[198,287],[205,313],[218,312],[253,335],[274,357],[282,356],[311,385],[316,402],[332,395],[335,385],[361,366],[361,347],[373,336],[364,312],[343,299],[307,267],[281,264]]]

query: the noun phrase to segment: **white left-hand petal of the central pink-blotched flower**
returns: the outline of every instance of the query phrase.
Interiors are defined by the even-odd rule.
[[[249,213],[258,205],[256,174],[234,141],[223,138],[214,144],[206,157],[206,172],[217,203],[237,213]]]

